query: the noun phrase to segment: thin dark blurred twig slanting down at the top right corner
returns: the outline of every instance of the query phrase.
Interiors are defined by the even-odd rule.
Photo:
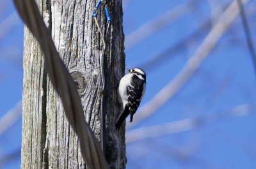
[[[240,15],[242,18],[242,23],[243,23],[243,27],[244,27],[244,33],[246,36],[246,41],[248,44],[248,48],[250,50],[250,54],[252,56],[252,61],[253,61],[253,67],[254,67],[254,71],[255,71],[255,75],[256,75],[256,54],[255,54],[255,50],[253,48],[253,42],[252,42],[252,36],[250,33],[250,27],[248,25],[247,19],[246,19],[246,14],[244,12],[244,8],[243,8],[243,4],[241,3],[241,0],[237,0],[238,6],[239,6],[239,10],[240,10]]]

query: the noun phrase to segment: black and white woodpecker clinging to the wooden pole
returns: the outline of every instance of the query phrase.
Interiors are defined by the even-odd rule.
[[[129,70],[120,80],[118,87],[118,100],[122,104],[122,114],[119,115],[116,122],[116,129],[125,121],[125,118],[130,114],[130,122],[140,105],[146,90],[146,73],[140,68]]]

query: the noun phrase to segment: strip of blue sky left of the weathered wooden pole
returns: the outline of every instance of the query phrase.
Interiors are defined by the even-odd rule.
[[[12,1],[0,3],[0,117],[22,99],[23,27]],[[0,135],[0,168],[19,168],[21,146],[21,116],[13,126]],[[13,161],[4,156],[15,153]],[[3,165],[4,162],[5,165]]]

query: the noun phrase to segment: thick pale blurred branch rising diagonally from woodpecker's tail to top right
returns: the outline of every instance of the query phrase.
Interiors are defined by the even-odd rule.
[[[246,3],[248,0],[243,0]],[[221,15],[215,26],[212,27],[209,34],[206,36],[202,44],[197,48],[195,54],[190,57],[187,64],[182,68],[179,74],[167,84],[161,91],[159,91],[154,98],[143,105],[136,113],[136,118],[132,123],[127,123],[127,128],[131,128],[142,119],[147,118],[153,114],[158,108],[162,107],[166,101],[172,98],[181,87],[188,82],[195,71],[198,69],[200,64],[204,61],[207,55],[211,52],[212,48],[215,47],[217,41],[221,35],[228,29],[228,26],[237,17],[239,9],[237,1],[233,1],[227,10]]]

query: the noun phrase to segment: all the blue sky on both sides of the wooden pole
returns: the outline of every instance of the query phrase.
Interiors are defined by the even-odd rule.
[[[132,1],[126,0],[124,8],[125,40],[143,24],[155,20],[188,1]],[[216,8],[232,1],[198,0],[193,9],[183,17],[150,34],[134,47],[125,46],[126,66],[134,68],[161,54],[164,50],[189,36],[205,21],[212,18]],[[0,8],[0,118],[22,98],[23,24],[12,13],[10,1],[1,2]],[[255,1],[245,7],[248,24],[255,41]],[[252,12],[251,12],[252,11]],[[4,20],[12,15],[14,24],[4,32]],[[218,18],[218,17],[216,17]],[[214,20],[212,20],[214,23]],[[9,23],[10,24],[10,23]],[[8,22],[7,22],[8,25]],[[147,68],[147,91],[141,106],[179,74],[188,59],[200,46],[210,29],[193,38],[175,52],[166,55],[161,64]],[[3,34],[4,33],[4,34]],[[127,42],[127,41],[125,41]],[[237,17],[207,55],[195,75],[168,100],[163,107],[136,126],[145,128],[182,119],[204,117],[223,112],[239,105],[255,105],[255,72],[248,50],[241,18]],[[244,110],[245,112],[247,110]],[[202,121],[202,126],[171,135],[147,138],[127,143],[127,168],[255,168],[256,141],[255,111],[243,117]],[[136,118],[136,114],[134,115]],[[205,123],[204,123],[205,122]],[[19,152],[21,145],[21,117],[0,135],[1,157]],[[153,134],[153,133],[152,133]],[[8,146],[6,146],[8,145]],[[19,168],[20,158],[1,165],[0,168]]]

